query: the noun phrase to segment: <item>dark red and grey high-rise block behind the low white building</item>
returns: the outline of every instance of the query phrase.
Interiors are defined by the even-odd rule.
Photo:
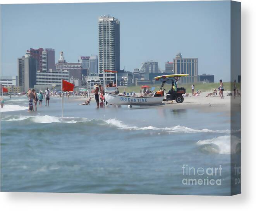
[[[26,55],[37,60],[37,70],[55,71],[55,50],[52,48],[30,48]]]

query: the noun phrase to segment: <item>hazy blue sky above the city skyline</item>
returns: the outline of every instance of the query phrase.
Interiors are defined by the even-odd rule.
[[[198,57],[198,73],[230,81],[230,2],[139,2],[1,5],[1,75],[17,75],[29,48],[64,51],[67,62],[98,55],[98,16],[120,21],[120,68],[146,60]]]

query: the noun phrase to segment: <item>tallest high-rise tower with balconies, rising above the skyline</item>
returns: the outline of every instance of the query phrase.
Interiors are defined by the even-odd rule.
[[[99,73],[103,70],[120,70],[120,27],[115,17],[100,16]]]

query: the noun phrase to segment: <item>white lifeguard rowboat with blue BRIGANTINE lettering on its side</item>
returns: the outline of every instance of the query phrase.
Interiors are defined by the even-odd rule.
[[[132,97],[105,92],[107,103],[114,105],[161,105],[164,96],[159,97]]]

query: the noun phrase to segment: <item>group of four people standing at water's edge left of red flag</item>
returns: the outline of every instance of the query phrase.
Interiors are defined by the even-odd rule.
[[[41,90],[38,94],[36,94],[36,91],[34,89],[27,89],[27,96],[28,96],[28,111],[34,112],[37,111],[37,103],[39,101],[39,106],[42,106],[43,97],[45,97],[45,106],[49,106],[49,100],[50,100],[50,90],[48,87],[45,90],[45,93],[43,93]],[[34,103],[34,104],[33,104]],[[47,104],[48,103],[48,104]]]

